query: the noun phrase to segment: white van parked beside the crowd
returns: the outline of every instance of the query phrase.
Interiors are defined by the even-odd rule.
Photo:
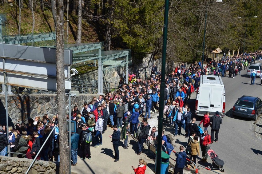
[[[200,85],[196,91],[195,114],[204,116],[206,112],[225,115],[226,97],[223,81],[220,76],[201,75]]]

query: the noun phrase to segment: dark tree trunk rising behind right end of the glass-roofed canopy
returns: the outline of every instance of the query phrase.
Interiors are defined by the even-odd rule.
[[[105,34],[105,50],[110,50],[111,47],[111,31],[112,31],[112,24],[111,20],[113,17],[113,6],[114,6],[114,0],[109,0],[109,9],[108,9],[108,19],[107,19],[107,26],[106,26],[106,34]]]

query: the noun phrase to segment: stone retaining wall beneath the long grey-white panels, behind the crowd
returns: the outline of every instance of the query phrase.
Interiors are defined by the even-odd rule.
[[[77,105],[82,109],[84,101],[92,100],[97,94],[80,94],[79,97],[71,97],[71,109]],[[68,96],[66,96],[65,108],[68,106]],[[11,125],[16,123],[27,123],[29,118],[36,116],[43,117],[48,114],[50,117],[57,114],[57,95],[56,94],[19,94],[8,95],[8,122]],[[69,107],[66,111],[69,113]],[[5,96],[0,95],[0,124],[6,124]]]

